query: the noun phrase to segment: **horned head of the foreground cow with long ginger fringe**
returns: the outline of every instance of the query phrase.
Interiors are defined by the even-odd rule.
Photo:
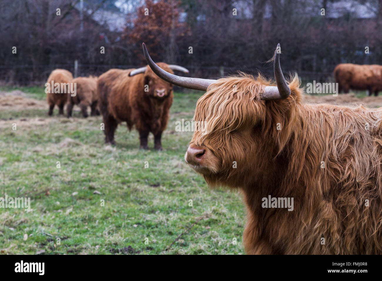
[[[275,86],[260,75],[254,78],[242,74],[219,80],[178,77],[155,67],[146,47],[144,54],[159,77],[178,86],[207,91],[196,104],[197,126],[185,154],[186,163],[210,185],[240,187],[254,177],[264,176],[262,171],[272,165],[272,158],[285,145],[282,142],[286,135],[291,135],[285,128],[281,134],[286,135],[280,138],[272,124],[286,125],[290,108],[301,96],[297,76],[289,85],[286,83],[279,54],[275,52],[274,57]],[[280,120],[270,120],[272,116],[280,116]]]

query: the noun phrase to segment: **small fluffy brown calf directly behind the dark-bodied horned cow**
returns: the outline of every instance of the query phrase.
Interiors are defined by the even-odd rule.
[[[76,95],[68,95],[68,105],[66,112],[68,117],[71,117],[74,104],[79,105],[83,117],[87,117],[87,107],[91,108],[91,116],[99,115],[97,109],[98,94],[97,94],[97,77],[77,77],[73,79],[76,83]]]

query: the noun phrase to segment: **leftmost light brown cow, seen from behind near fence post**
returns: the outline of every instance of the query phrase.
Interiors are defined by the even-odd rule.
[[[73,75],[70,71],[65,69],[55,69],[50,73],[47,83],[45,84],[47,89],[47,102],[49,104],[49,112],[48,115],[52,116],[53,108],[55,105],[58,106],[58,114],[64,114],[64,106],[66,101],[68,100],[68,89],[70,89],[69,83],[73,80]],[[61,84],[63,87],[60,87],[60,91],[58,93],[53,91],[53,85],[56,83]],[[64,90],[63,90],[64,89]]]

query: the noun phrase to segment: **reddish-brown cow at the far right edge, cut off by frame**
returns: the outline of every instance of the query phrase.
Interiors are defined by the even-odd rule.
[[[381,65],[358,65],[353,63],[340,63],[333,71],[338,92],[349,93],[353,90],[368,90],[369,96],[382,91],[382,66]]]

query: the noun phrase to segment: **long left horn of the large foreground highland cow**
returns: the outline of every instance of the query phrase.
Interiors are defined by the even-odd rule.
[[[176,86],[181,86],[183,88],[206,91],[210,84],[216,82],[216,80],[182,77],[168,73],[152,61],[144,43],[142,44],[142,48],[144,57],[146,58],[149,67],[151,67],[152,71],[154,71],[156,75],[158,75],[160,78],[167,81],[168,83],[172,83]]]

